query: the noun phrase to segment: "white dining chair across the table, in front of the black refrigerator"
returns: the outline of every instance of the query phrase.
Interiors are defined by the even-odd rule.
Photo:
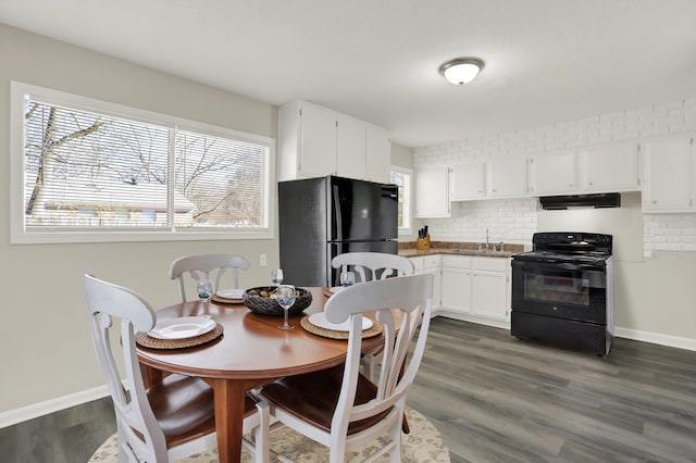
[[[414,272],[413,263],[410,260],[384,252],[346,252],[332,259],[331,265],[339,272],[353,272],[357,276],[357,283],[398,275],[412,275]],[[364,373],[373,380],[380,363],[377,356],[380,353],[381,350],[362,354]]]

